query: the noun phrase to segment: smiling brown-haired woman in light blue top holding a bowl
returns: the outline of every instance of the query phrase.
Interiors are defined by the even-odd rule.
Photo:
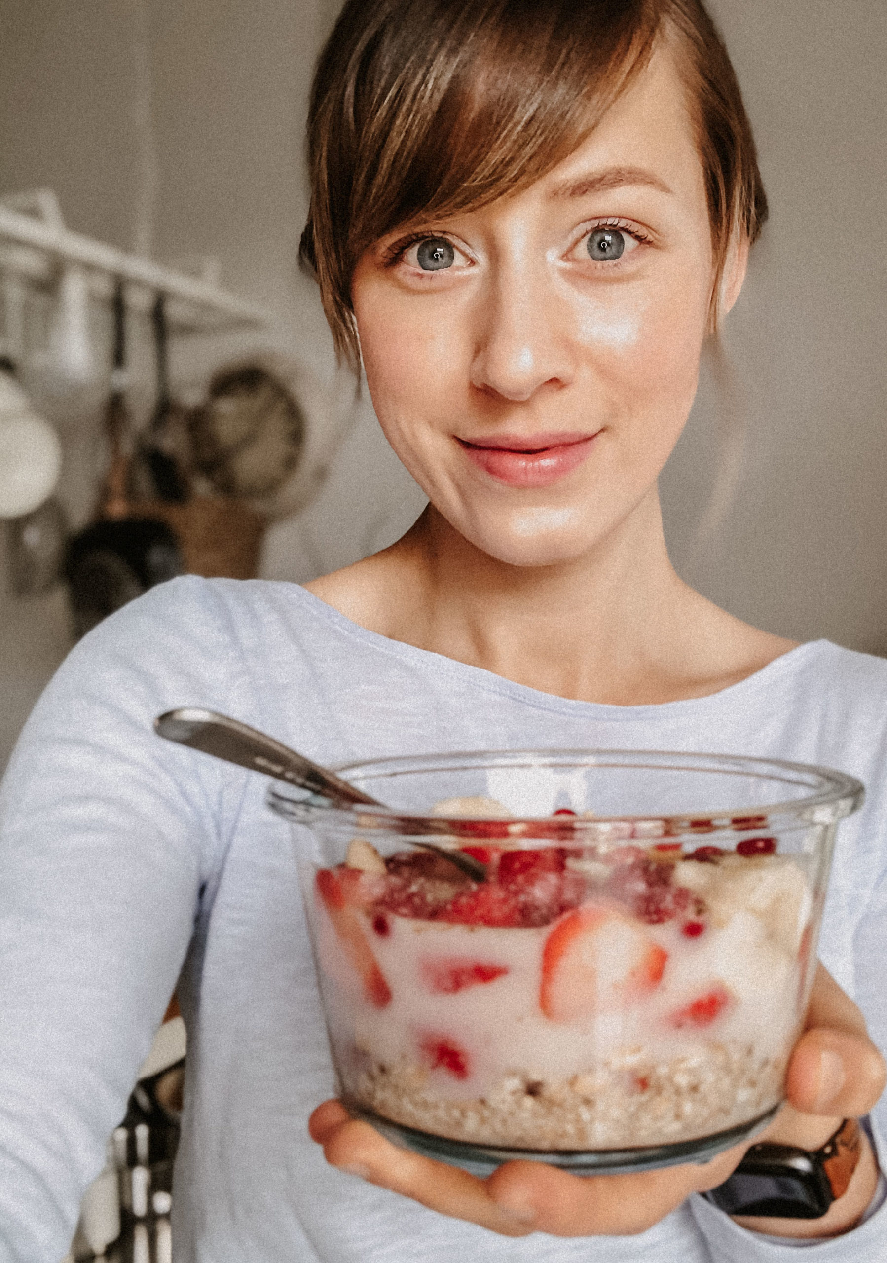
[[[509,1163],[484,1182],[335,1101],[311,1119],[332,1166],[306,1140],[330,1070],[286,830],[258,778],[150,736],[172,706],[235,714],[327,763],[622,745],[843,767],[869,805],[843,829],[823,957],[887,1029],[887,668],[718,610],[662,536],[656,480],[766,213],[704,10],[353,0],[311,139],[305,256],[431,503],[393,548],[307,592],[155,590],[81,643],[29,721],[4,787],[0,1258],[63,1248],[177,978],[182,1259],[701,1263],[788,1257],[799,1235],[839,1238],[806,1247],[823,1258],[877,1257],[869,1139],[812,1223],[734,1221],[690,1197],[742,1147],[593,1180]],[[816,1149],[882,1085],[859,1010],[821,971],[771,1138]]]

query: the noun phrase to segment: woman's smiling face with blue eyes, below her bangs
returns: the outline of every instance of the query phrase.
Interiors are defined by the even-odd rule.
[[[379,423],[431,503],[490,556],[551,565],[655,494],[711,284],[703,168],[658,52],[548,176],[383,237],[351,297]]]

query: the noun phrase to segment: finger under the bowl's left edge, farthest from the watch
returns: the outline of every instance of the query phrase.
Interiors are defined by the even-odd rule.
[[[334,1105],[345,1114],[344,1119]],[[441,1215],[465,1219],[505,1236],[526,1236],[533,1230],[508,1207],[498,1206],[483,1180],[398,1148],[369,1123],[351,1119],[337,1101],[326,1101],[315,1110],[311,1128],[312,1134],[313,1130],[322,1134],[326,1161],[340,1171],[399,1192]]]

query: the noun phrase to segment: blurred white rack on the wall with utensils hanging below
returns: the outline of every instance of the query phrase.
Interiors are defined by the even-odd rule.
[[[203,260],[203,274],[190,275],[129,254],[64,226],[51,189],[0,197],[0,273],[37,289],[53,289],[59,269],[80,268],[90,296],[110,302],[115,283],[126,282],[131,311],[149,311],[164,294],[167,318],[176,332],[216,332],[238,326],[268,326],[272,314],[219,287],[215,260]]]

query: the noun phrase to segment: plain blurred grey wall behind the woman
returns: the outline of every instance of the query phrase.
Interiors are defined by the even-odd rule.
[[[691,584],[752,623],[887,652],[887,5],[711,9],[756,128],[771,222],[723,335],[725,368],[706,369],[662,479],[672,556]],[[0,196],[49,187],[77,231],[166,261],[216,255],[226,287],[274,313],[260,338],[176,344],[182,390],[259,342],[332,379],[296,251],[310,77],[336,10],[336,0],[0,5]],[[150,240],[134,104],[139,30],[158,168]],[[80,524],[100,472],[100,394],[44,398],[39,374],[23,373],[59,428],[59,494]],[[136,373],[136,410],[150,407],[148,379],[147,368]],[[364,400],[318,499],[267,537],[263,573],[298,582],[354,561],[394,539],[422,504]],[[1,571],[0,558],[0,767],[68,645],[63,591],[15,600]]]

